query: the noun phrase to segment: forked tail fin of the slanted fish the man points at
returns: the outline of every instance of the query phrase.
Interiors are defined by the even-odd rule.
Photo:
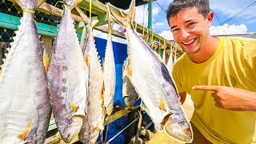
[[[120,22],[123,26],[127,26],[131,23],[131,21],[133,20],[133,14],[134,14],[134,10],[135,10],[135,1],[132,0],[131,4],[130,4],[130,10],[128,12],[128,14],[126,15],[126,18],[122,18],[115,10],[114,10],[114,6],[112,6],[110,3],[107,3],[107,6],[109,6],[110,9],[110,13],[114,16],[114,18],[117,20],[117,22]],[[116,10],[118,10],[116,8]]]

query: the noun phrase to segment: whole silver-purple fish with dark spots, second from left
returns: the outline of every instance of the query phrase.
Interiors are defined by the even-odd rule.
[[[48,71],[54,118],[65,142],[78,135],[86,119],[86,63],[71,18],[76,2],[64,1],[64,16],[58,27]]]

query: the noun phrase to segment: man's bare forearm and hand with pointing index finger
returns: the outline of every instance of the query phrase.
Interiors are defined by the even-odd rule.
[[[215,106],[238,111],[256,111],[256,93],[229,86],[193,86],[193,90],[213,91]]]

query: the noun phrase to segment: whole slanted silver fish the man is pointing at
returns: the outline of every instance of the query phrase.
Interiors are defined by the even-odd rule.
[[[133,0],[126,18],[120,17],[110,7],[114,18],[127,29],[130,82],[142,98],[142,108],[150,115],[157,130],[166,130],[166,133],[177,141],[191,142],[190,122],[182,110],[178,92],[166,66],[158,54],[154,54],[130,26],[134,6]]]

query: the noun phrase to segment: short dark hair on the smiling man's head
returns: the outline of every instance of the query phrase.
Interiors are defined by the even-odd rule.
[[[166,11],[167,22],[169,23],[170,17],[176,16],[180,10],[188,7],[197,8],[198,13],[202,14],[204,18],[210,13],[209,0],[174,0]]]

